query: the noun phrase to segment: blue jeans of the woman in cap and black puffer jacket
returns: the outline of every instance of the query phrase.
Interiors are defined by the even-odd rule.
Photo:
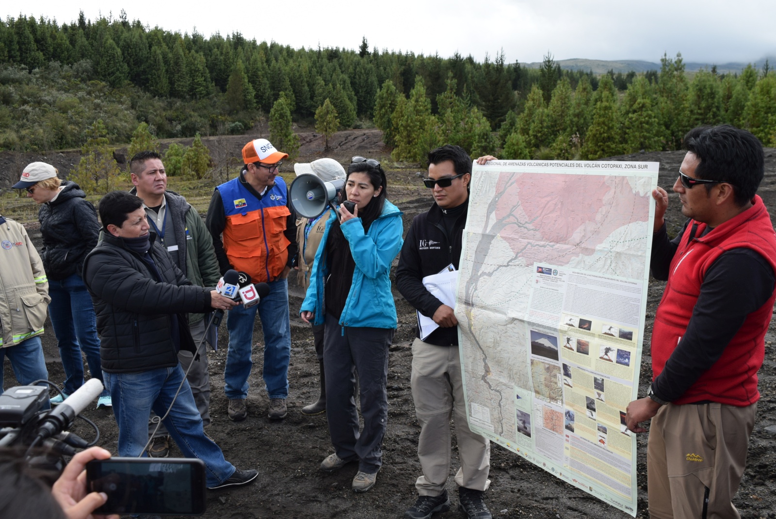
[[[59,355],[66,377],[64,392],[71,395],[84,384],[84,359],[81,357],[81,350],[86,355],[92,376],[103,382],[95,309],[92,306],[92,296],[89,296],[81,276],[73,274],[59,281],[49,279],[49,296],[49,315],[54,334],[57,336]],[[108,394],[106,389],[100,396]]]

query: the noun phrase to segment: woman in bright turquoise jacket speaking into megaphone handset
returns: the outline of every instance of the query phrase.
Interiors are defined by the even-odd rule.
[[[334,454],[324,472],[359,462],[356,492],[375,484],[388,419],[388,348],[397,327],[389,279],[390,265],[403,243],[401,212],[386,200],[386,175],[374,159],[353,157],[339,215],[331,211],[315,256],[301,317],[325,324],[327,419]],[[352,202],[352,212],[344,202]],[[353,391],[359,372],[361,413]]]

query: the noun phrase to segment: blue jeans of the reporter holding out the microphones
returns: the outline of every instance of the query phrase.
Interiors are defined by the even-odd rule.
[[[207,486],[217,486],[234,474],[234,465],[223,458],[218,445],[205,435],[202,417],[180,365],[140,373],[103,372],[102,376],[110,388],[113,413],[119,424],[120,456],[140,454],[148,441],[148,413],[153,409],[160,417],[165,416],[183,381],[181,392],[164,420],[165,427],[185,458],[205,462]]]

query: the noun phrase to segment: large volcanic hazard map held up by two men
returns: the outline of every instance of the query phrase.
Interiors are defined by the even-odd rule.
[[[474,164],[456,298],[473,429],[634,516],[658,168]]]

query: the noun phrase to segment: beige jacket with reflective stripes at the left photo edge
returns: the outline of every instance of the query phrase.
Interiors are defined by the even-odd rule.
[[[43,261],[27,231],[0,216],[0,348],[43,334],[50,300]]]

